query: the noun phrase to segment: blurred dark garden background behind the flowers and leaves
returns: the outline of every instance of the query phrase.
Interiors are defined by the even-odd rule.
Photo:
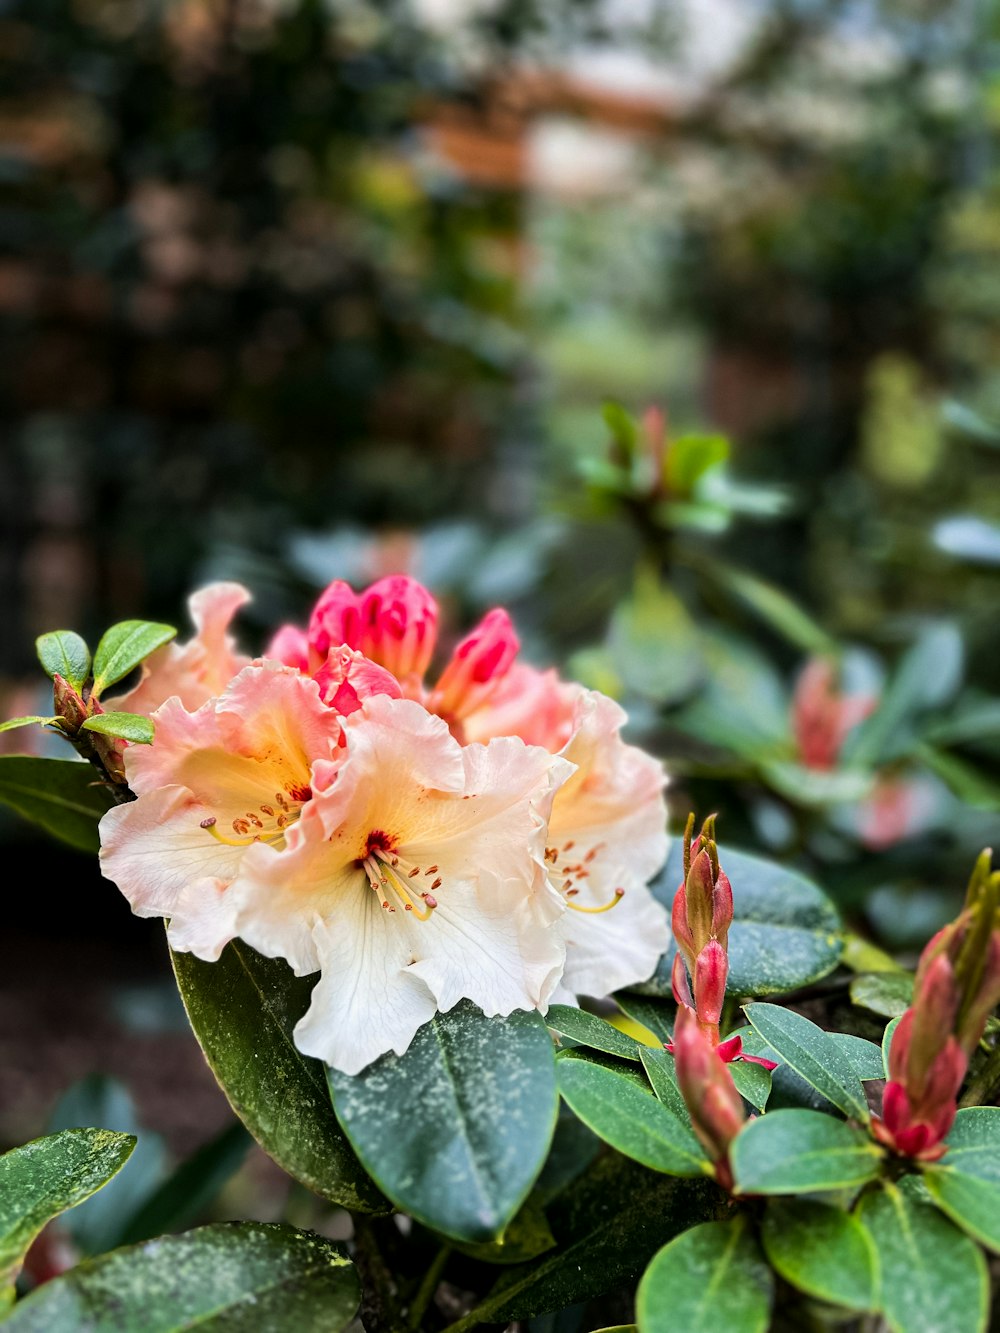
[[[3,0],[0,44],[5,716],[43,631],[225,577],[260,649],[403,569],[621,698],[675,821],[893,950],[955,910],[1000,810],[992,0]],[[115,1074],[201,1142],[159,926],[0,852],[0,1140]]]

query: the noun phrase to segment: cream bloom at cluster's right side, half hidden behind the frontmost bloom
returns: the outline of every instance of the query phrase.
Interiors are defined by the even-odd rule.
[[[552,888],[571,909],[557,929],[567,960],[560,997],[601,997],[645,981],[669,944],[667,910],[647,881],[667,860],[663,765],[620,736],[625,713],[584,690],[560,753],[576,772],[548,826]]]

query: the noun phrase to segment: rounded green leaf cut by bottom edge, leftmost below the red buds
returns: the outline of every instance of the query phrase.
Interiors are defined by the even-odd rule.
[[[643,1274],[639,1333],[765,1333],[773,1298],[749,1221],[701,1222],[664,1245]]]

